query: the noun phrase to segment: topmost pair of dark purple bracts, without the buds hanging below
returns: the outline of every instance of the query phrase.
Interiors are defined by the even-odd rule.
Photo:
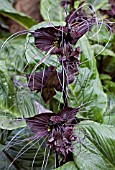
[[[71,45],[75,45],[94,24],[93,16],[86,17],[82,7],[76,11],[73,9],[65,18],[65,26],[40,28],[32,35],[35,38],[35,45],[41,51],[50,54],[64,55]]]

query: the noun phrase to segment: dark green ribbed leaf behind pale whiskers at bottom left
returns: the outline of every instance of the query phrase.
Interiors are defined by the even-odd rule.
[[[33,140],[32,142],[31,140],[25,142],[23,141],[32,136],[33,134],[31,134],[30,131],[27,129],[18,129],[12,131],[12,133],[7,138],[7,141],[5,142],[6,151],[7,151],[6,153],[12,158],[12,161],[15,159],[14,165],[17,165],[18,167],[17,169],[29,170],[32,168],[32,163],[34,163],[33,169],[41,170],[44,161],[44,156],[45,156],[45,162],[43,167],[45,167],[45,164],[47,164],[46,166],[47,170],[53,169],[54,155],[52,154],[52,151],[50,151],[50,156],[48,156],[48,152],[49,152],[48,149],[47,152],[45,153],[46,146],[45,146],[44,139],[41,139],[40,141]],[[13,146],[11,147],[12,144]],[[7,150],[7,148],[9,149]],[[4,170],[7,170],[8,167],[11,165],[11,161],[9,162],[7,159],[8,158],[5,157],[4,167],[6,165],[5,164],[6,162],[8,162],[8,164],[6,165]],[[1,160],[0,160],[0,165],[1,165]],[[12,166],[9,168],[9,170],[12,170]]]

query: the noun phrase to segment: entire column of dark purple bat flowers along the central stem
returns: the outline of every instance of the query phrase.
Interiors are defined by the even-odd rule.
[[[75,115],[79,110],[68,107],[66,97],[67,84],[74,81],[80,63],[78,60],[80,47],[74,48],[74,45],[95,23],[95,17],[85,15],[80,5],[77,11],[72,9],[65,18],[65,23],[65,26],[40,28],[31,33],[39,50],[57,55],[62,71],[57,72],[55,67],[49,66],[43,71],[26,75],[30,90],[41,92],[45,102],[53,98],[56,90],[62,91],[65,108],[57,114],[45,112],[25,120],[35,138],[47,136],[47,147],[52,148],[66,161],[73,149],[72,141],[76,140],[73,128],[76,123]]]

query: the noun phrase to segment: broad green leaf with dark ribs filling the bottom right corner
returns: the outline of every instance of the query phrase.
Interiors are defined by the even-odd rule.
[[[115,127],[84,121],[75,134],[73,154],[80,170],[115,170]]]

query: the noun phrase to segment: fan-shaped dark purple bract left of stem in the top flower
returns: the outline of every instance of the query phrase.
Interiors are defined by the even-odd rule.
[[[35,45],[38,49],[50,54],[60,53],[60,43],[62,39],[62,31],[59,27],[47,27],[35,30],[32,35],[35,38]]]

